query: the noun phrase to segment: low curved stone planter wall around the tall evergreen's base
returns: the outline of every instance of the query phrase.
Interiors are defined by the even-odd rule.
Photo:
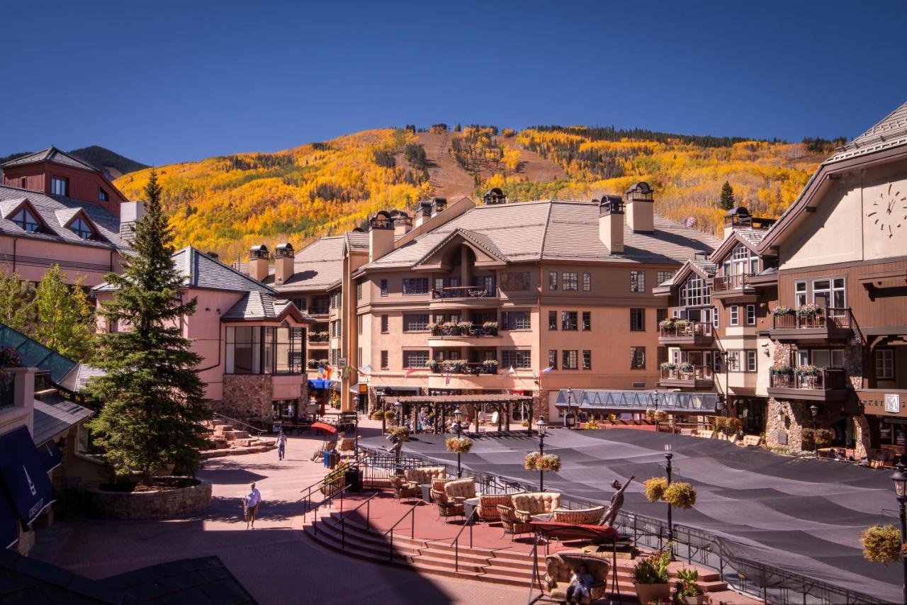
[[[115,521],[171,519],[207,509],[211,503],[211,483],[204,479],[190,487],[157,492],[105,492],[92,487],[85,492],[90,516]]]

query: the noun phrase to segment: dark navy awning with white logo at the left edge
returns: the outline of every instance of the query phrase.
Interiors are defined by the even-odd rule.
[[[54,487],[24,426],[0,434],[0,474],[15,511],[30,525],[54,503]]]

